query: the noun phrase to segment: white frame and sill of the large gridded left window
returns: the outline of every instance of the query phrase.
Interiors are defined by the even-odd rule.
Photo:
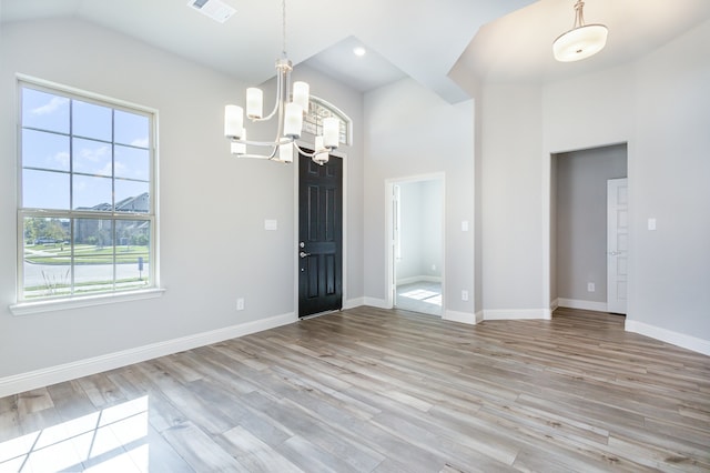
[[[22,203],[22,171],[23,171],[23,162],[22,162],[22,90],[29,88],[33,90],[38,90],[41,92],[47,92],[55,95],[65,97],[70,100],[78,100],[81,102],[93,103],[102,107],[108,107],[112,110],[124,111],[129,113],[144,115],[149,119],[149,157],[150,157],[150,177],[149,177],[149,199],[150,199],[150,210],[149,212],[116,212],[112,211],[93,211],[93,210],[44,210],[44,209],[28,209],[23,207]],[[53,310],[64,310],[64,309],[73,309],[81,306],[90,306],[97,304],[106,304],[119,301],[126,300],[140,300],[140,299],[150,299],[160,296],[163,292],[160,289],[160,252],[158,248],[159,242],[159,224],[158,224],[158,110],[150,109],[143,105],[138,105],[134,103],[130,103],[123,100],[109,98],[105,95],[100,95],[97,93],[87,92],[83,90],[70,88],[67,85],[57,84],[53,82],[44,81],[41,79],[36,79],[22,74],[18,74],[17,78],[17,117],[18,117],[18,125],[17,125],[17,162],[18,162],[18,193],[17,193],[17,303],[10,305],[10,310],[16,315],[23,315],[29,313],[37,312],[45,312]],[[74,137],[71,131],[67,133],[67,135],[71,139]],[[115,142],[113,139],[111,140],[111,144],[114,145]],[[115,158],[112,155],[111,160],[113,162]],[[69,171],[70,177],[73,174],[73,171]],[[114,179],[114,178],[112,178]],[[89,218],[89,219],[101,219],[101,220],[110,220],[112,222],[121,221],[121,220],[142,220],[150,222],[150,263],[148,264],[148,285],[140,289],[131,289],[131,290],[120,290],[115,286],[115,265],[116,262],[113,262],[113,286],[110,290],[105,291],[97,291],[97,292],[88,292],[75,294],[73,293],[74,281],[72,278],[72,294],[71,295],[61,295],[61,296],[48,296],[48,298],[38,298],[38,299],[27,299],[24,294],[24,219],[28,217],[41,217],[41,218],[60,218],[60,219],[77,219]],[[71,221],[71,220],[70,220]],[[73,241],[72,241],[73,244]],[[113,248],[115,255],[115,246],[116,242],[113,239]],[[73,262],[72,262],[73,264]]]

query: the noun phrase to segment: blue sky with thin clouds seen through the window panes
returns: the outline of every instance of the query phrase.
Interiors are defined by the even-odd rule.
[[[149,117],[26,87],[22,128],[23,208],[65,210],[70,194],[73,209],[110,208],[150,192]]]

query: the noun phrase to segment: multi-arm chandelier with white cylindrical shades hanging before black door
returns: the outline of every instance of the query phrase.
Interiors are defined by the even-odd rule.
[[[246,89],[246,117],[252,122],[277,120],[273,141],[254,141],[246,138],[244,109],[239,105],[224,108],[224,135],[231,141],[231,153],[239,158],[256,158],[281,162],[293,162],[294,151],[323,165],[339,140],[339,120],[336,117],[323,119],[323,134],[315,137],[314,151],[303,150],[297,139],[303,130],[303,118],[308,111],[310,87],[306,82],[291,85],[293,64],[286,56],[286,0],[282,0],[282,57],[276,60],[276,100],[267,115],[263,114],[263,92],[257,88]],[[248,148],[247,148],[248,147]],[[262,152],[252,152],[256,148]]]

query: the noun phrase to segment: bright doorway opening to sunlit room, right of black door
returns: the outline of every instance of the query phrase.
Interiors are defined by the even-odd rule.
[[[444,308],[444,177],[393,180],[388,244],[392,306],[442,316]]]

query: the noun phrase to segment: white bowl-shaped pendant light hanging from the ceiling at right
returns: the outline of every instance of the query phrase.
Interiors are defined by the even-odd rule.
[[[585,24],[584,8],[585,2],[577,0],[572,29],[557,37],[552,43],[555,59],[560,62],[587,59],[601,51],[607,44],[607,27],[604,24]]]

